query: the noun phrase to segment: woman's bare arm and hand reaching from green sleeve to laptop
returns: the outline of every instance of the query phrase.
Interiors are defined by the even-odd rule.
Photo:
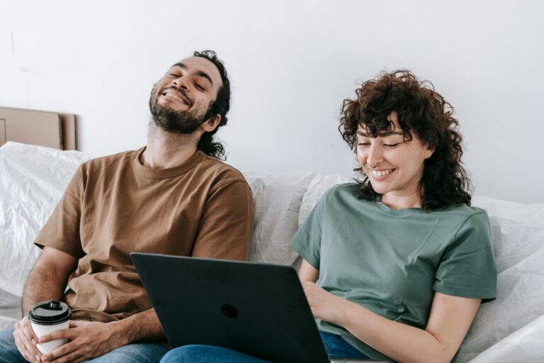
[[[319,270],[305,261],[302,262],[299,276],[316,318],[343,326],[359,340],[397,362],[450,362],[481,302],[480,298],[462,298],[436,292],[429,321],[423,330],[389,320],[330,294],[314,284]]]

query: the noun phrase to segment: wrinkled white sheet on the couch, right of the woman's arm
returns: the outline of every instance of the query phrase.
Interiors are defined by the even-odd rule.
[[[544,204],[485,196],[475,196],[472,202],[489,215],[499,276],[497,300],[480,307],[461,346],[459,362],[476,357],[544,314]],[[544,340],[538,350],[531,341],[515,343],[519,359],[502,362],[530,362],[526,359],[535,357],[535,352],[544,362]]]

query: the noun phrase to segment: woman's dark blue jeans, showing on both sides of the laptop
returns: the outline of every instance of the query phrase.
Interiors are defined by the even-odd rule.
[[[331,358],[368,359],[339,335],[321,332],[325,349]],[[166,353],[161,363],[266,363],[265,360],[250,355],[209,345],[185,345]]]

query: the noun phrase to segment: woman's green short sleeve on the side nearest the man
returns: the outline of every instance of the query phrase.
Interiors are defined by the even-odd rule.
[[[321,260],[321,238],[323,230],[324,213],[326,209],[326,196],[321,197],[314,206],[305,222],[295,233],[291,240],[293,250],[305,259],[315,269],[319,269]]]

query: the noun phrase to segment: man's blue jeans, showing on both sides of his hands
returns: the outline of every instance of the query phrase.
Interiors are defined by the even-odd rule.
[[[168,348],[157,343],[138,343],[124,345],[101,357],[86,362],[92,363],[157,363],[168,352]],[[13,329],[0,330],[0,363],[27,363],[19,353]]]

